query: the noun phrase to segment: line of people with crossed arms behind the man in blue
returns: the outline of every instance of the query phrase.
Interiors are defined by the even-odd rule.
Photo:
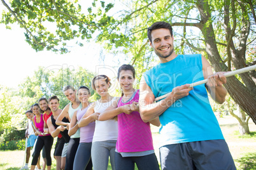
[[[31,169],[39,162],[43,148],[47,169],[51,169],[50,151],[55,137],[53,155],[57,169],[108,169],[109,158],[112,169],[134,169],[135,163],[139,169],[159,169],[150,130],[150,123],[160,126],[159,118],[142,121],[137,106],[139,90],[133,88],[132,65],[122,65],[117,79],[121,97],[108,93],[111,86],[108,76],[97,75],[92,79],[92,88],[101,98],[94,103],[89,102],[87,86],[81,86],[78,91],[66,86],[63,92],[70,103],[63,110],[59,108],[59,98],[52,96],[48,100],[40,98],[39,104],[33,105],[34,117],[27,115],[31,111],[26,112],[38,135]]]

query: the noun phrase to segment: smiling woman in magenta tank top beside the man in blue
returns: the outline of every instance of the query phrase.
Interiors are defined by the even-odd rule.
[[[122,65],[118,69],[117,79],[122,89],[122,97],[117,98],[113,105],[99,115],[99,121],[118,117],[116,169],[134,169],[134,163],[139,170],[159,169],[150,130],[150,123],[160,126],[159,118],[150,123],[142,121],[137,106],[139,90],[133,88],[135,70],[132,65]]]

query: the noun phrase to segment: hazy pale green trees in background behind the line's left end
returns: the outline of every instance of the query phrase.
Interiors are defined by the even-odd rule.
[[[27,117],[25,111],[31,109],[31,105],[38,103],[41,97],[50,98],[57,95],[60,99],[60,108],[64,108],[69,101],[62,89],[71,85],[78,89],[80,86],[88,86],[91,91],[90,101],[99,99],[99,95],[91,88],[91,80],[94,75],[86,69],[63,68],[55,66],[49,68],[39,67],[34,75],[27,77],[18,89],[10,89],[0,86],[0,141],[10,131],[25,129]],[[3,134],[3,135],[2,135]]]

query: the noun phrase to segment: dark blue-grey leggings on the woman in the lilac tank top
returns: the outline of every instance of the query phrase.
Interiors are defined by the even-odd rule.
[[[76,156],[73,164],[73,169],[85,169],[90,161],[90,150],[92,148],[92,142],[79,143],[76,151]]]

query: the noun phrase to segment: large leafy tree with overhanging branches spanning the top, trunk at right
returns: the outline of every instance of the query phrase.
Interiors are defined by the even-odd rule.
[[[144,72],[154,60],[146,29],[162,20],[173,26],[176,52],[202,53],[216,72],[256,63],[253,0],[134,0],[125,1],[121,11],[113,3],[94,0],[88,13],[82,13],[76,1],[13,0],[11,8],[1,1],[8,9],[1,22],[18,22],[26,31],[26,41],[37,51],[46,48],[65,53],[66,41],[91,39],[96,34],[97,42],[115,53],[125,53],[127,61]],[[45,22],[56,23],[56,33],[50,33],[43,26]],[[256,72],[239,76],[242,81],[229,77],[225,88],[256,124]]]

